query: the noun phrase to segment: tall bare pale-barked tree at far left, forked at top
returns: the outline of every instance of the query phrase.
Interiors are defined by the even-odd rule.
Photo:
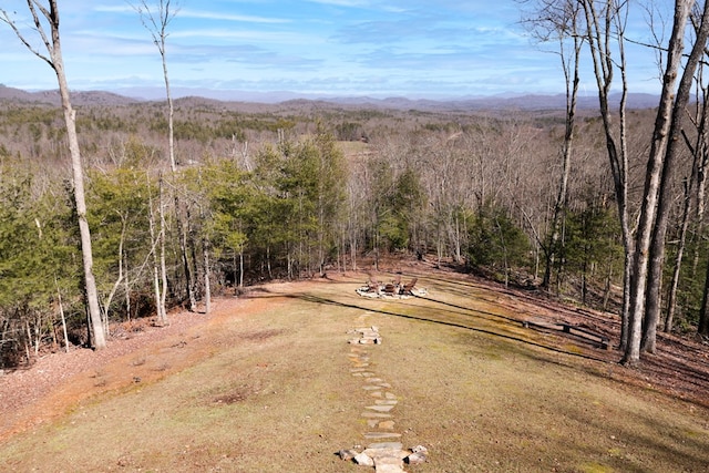
[[[74,205],[76,206],[76,216],[79,220],[79,233],[81,237],[81,253],[84,268],[84,290],[86,305],[89,308],[89,320],[92,335],[92,345],[99,350],[106,347],[106,337],[103,325],[101,322],[101,309],[99,306],[99,294],[96,290],[96,281],[93,275],[93,251],[91,248],[91,230],[86,220],[86,202],[84,197],[84,171],[79,148],[79,138],[76,136],[76,113],[71,105],[69,94],[69,84],[64,71],[64,61],[61,49],[61,37],[59,32],[59,8],[56,0],[49,0],[45,6],[39,0],[27,0],[27,6],[32,16],[32,29],[41,39],[47,52],[42,52],[35,48],[31,40],[20,31],[20,27],[8,12],[0,9],[0,20],[7,23],[17,34],[19,40],[38,58],[49,64],[56,74],[59,83],[59,93],[62,101],[62,110],[64,112],[64,122],[66,125],[66,137],[69,140],[69,152],[71,154],[71,167],[73,178]]]

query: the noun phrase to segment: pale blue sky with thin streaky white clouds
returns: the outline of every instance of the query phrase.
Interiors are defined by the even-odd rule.
[[[58,3],[70,89],[164,88],[160,52],[132,8],[138,0]],[[167,25],[166,60],[175,89],[410,99],[564,92],[556,44],[530,37],[514,0],[172,4],[177,9]],[[39,48],[27,2],[0,1],[0,8]],[[647,24],[638,13],[627,35],[649,41]],[[56,89],[53,71],[4,23],[0,44],[0,84]],[[629,44],[628,58],[630,92],[659,93],[655,53]],[[589,72],[582,94],[595,93]]]

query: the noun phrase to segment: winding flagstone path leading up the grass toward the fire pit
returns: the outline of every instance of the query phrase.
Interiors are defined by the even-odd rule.
[[[382,342],[379,329],[367,323],[370,315],[366,312],[357,320],[357,325],[364,328],[357,328],[350,332],[354,337],[349,339],[351,348],[348,358],[351,362],[350,373],[362,379],[362,389],[371,398],[361,418],[367,425],[364,440],[373,443],[367,445],[362,452],[341,450],[339,455],[342,460],[351,460],[362,466],[373,466],[378,473],[405,473],[404,463],[423,463],[427,461],[428,452],[424,446],[404,450],[400,442],[401,433],[397,432],[393,415],[399,398],[392,385],[377,376],[370,361],[371,350]]]

